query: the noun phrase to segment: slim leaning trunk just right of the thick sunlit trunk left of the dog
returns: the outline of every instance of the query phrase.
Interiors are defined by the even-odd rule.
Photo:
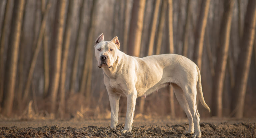
[[[68,5],[68,14],[66,19],[66,28],[64,33],[64,43],[63,43],[63,53],[62,53],[62,63],[61,63],[61,76],[60,76],[60,104],[59,104],[59,114],[60,118],[64,117],[65,113],[65,81],[66,81],[66,71],[67,71],[67,61],[68,61],[68,51],[70,46],[71,37],[71,21],[73,16],[73,6],[74,1],[70,0]]]

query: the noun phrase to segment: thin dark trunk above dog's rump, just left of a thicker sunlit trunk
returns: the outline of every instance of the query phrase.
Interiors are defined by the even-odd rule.
[[[183,32],[183,56],[188,57],[189,24],[190,24],[190,0],[187,2],[186,21]]]

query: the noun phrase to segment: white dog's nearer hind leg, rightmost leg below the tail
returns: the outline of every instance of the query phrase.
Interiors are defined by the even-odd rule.
[[[192,114],[193,117],[193,122],[194,122],[194,126],[195,126],[195,133],[193,135],[193,138],[197,138],[197,137],[201,137],[201,130],[200,130],[200,126],[199,126],[199,113],[197,111],[197,105],[196,105],[196,84],[194,85],[187,85],[184,88],[185,91],[185,96],[188,102],[188,106],[190,108],[190,112]]]

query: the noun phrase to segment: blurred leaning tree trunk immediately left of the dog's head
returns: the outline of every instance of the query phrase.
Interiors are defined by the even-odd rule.
[[[83,68],[83,76],[80,84],[80,93],[83,94],[86,92],[86,100],[90,101],[91,94],[91,79],[92,79],[92,50],[94,44],[94,29],[95,29],[95,21],[96,21],[96,4],[97,0],[93,1],[92,9],[91,9],[91,20],[89,24],[89,30],[87,32],[87,43],[86,43],[86,53],[85,53],[85,61]]]

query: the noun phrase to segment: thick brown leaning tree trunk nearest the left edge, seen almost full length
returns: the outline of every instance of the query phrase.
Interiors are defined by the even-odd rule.
[[[9,39],[9,48],[7,56],[7,67],[5,76],[5,87],[3,95],[3,104],[1,113],[9,116],[12,111],[13,99],[14,99],[14,89],[16,81],[16,70],[18,61],[18,51],[20,43],[20,33],[22,26],[22,18],[24,13],[25,0],[14,1],[13,8],[13,19],[11,26],[11,34]]]

